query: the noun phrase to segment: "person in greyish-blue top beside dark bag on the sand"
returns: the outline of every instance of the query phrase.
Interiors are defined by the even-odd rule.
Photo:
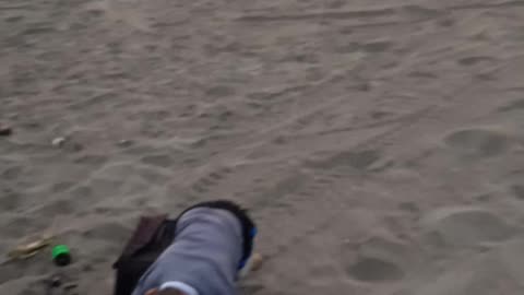
[[[178,219],[172,243],[144,272],[133,295],[234,295],[251,257],[255,226],[229,201],[196,204]]]

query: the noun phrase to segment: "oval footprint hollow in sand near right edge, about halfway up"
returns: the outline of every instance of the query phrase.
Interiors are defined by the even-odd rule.
[[[510,138],[497,130],[463,129],[449,133],[444,143],[466,156],[491,157],[504,153],[510,145]]]

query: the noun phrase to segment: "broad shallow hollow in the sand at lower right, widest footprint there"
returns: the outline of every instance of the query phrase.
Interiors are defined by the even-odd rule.
[[[422,217],[427,241],[436,246],[471,247],[481,243],[501,241],[515,229],[503,219],[475,206],[451,206]]]

